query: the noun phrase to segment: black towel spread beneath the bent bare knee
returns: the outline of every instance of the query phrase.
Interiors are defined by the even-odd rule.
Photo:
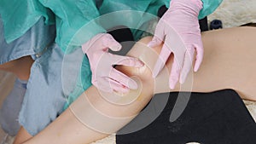
[[[224,89],[212,93],[191,93],[189,103],[176,121],[170,122],[170,114],[178,93],[170,93],[166,107],[160,111],[166,94],[152,99],[152,115],[159,117],[143,130],[124,134],[141,121],[143,114],[119,130],[117,144],[255,144],[256,124],[236,91]],[[186,94],[186,93],[184,93]],[[167,96],[168,97],[168,96]],[[150,112],[149,112],[150,113]],[[147,118],[147,117],[145,117]]]

